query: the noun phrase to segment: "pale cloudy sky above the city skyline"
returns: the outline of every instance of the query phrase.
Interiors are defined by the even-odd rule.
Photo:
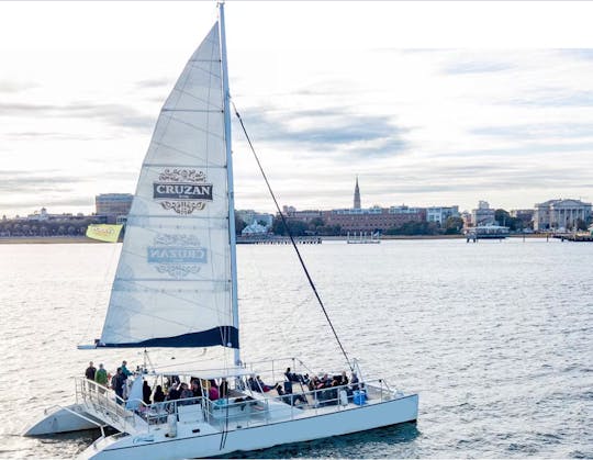
[[[225,7],[233,101],[280,204],[593,201],[591,2]],[[215,2],[0,2],[0,215],[133,193]],[[273,211],[233,125],[237,209]]]

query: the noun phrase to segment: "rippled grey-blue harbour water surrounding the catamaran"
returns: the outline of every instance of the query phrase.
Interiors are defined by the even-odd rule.
[[[108,369],[142,361],[139,350],[76,350],[99,334],[119,250],[0,245],[0,457],[83,449],[92,431],[19,435],[45,407],[72,402],[71,377],[89,360]],[[419,392],[418,422],[243,457],[593,458],[593,245],[336,242],[301,250],[348,352],[367,374]],[[237,251],[244,358],[343,367],[290,247]],[[216,355],[157,350],[153,360]]]

